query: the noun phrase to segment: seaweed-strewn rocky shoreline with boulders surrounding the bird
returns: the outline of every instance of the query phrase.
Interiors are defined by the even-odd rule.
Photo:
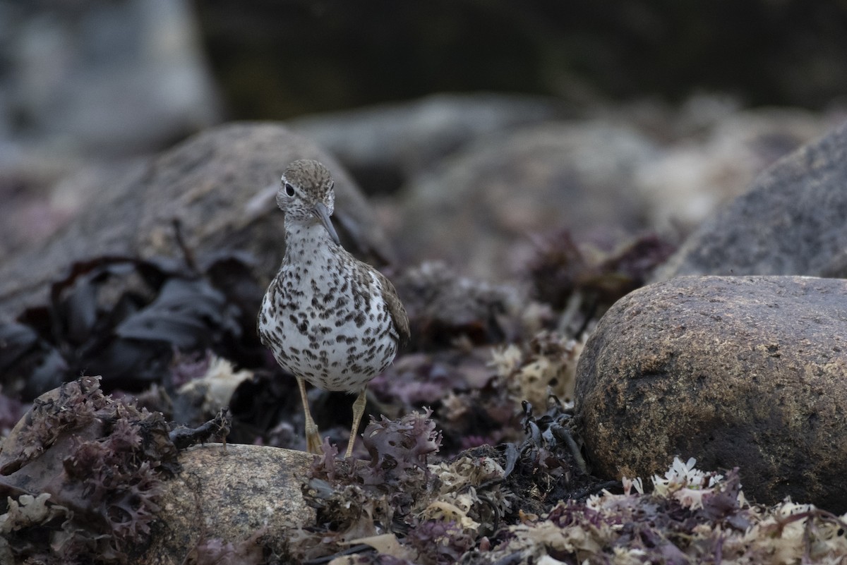
[[[671,143],[643,115],[501,102],[473,139],[404,122],[424,162],[390,135],[389,164],[340,146],[396,113],[208,129],[87,177],[58,230],[6,250],[0,557],[837,562],[847,125],[727,110]],[[324,455],[298,451],[294,380],[255,335],[285,249],[268,194],[296,158],[332,169],[346,248],[412,324],[358,463],[325,392]],[[400,188],[366,195],[346,167]],[[166,421],[230,445],[185,451]]]

